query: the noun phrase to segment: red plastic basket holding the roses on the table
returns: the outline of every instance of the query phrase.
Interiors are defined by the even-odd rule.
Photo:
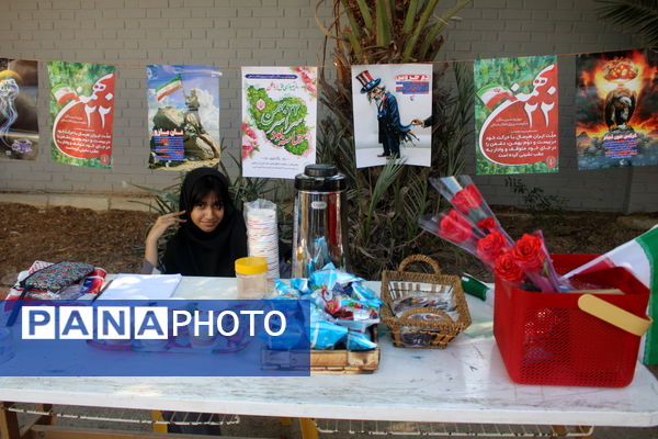
[[[593,259],[553,255],[559,273]],[[593,294],[646,318],[649,290],[614,268],[580,277],[624,294]],[[578,307],[580,293],[519,290],[496,279],[494,336],[510,378],[520,384],[623,387],[633,381],[640,337]]]

